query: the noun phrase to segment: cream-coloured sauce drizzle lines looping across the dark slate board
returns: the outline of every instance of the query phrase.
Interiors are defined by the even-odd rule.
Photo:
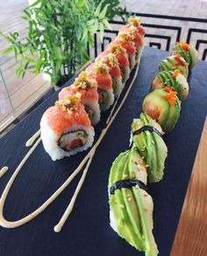
[[[71,211],[74,208],[75,205],[75,201],[77,198],[78,193],[80,192],[81,188],[82,188],[82,184],[84,182],[84,179],[86,177],[86,174],[89,170],[89,165],[91,164],[92,158],[95,155],[96,152],[96,148],[97,146],[102,142],[104,135],[106,134],[106,132],[108,131],[108,129],[111,127],[112,122],[114,121],[114,119],[116,118],[118,112],[120,111],[121,107],[124,105],[125,103],[125,99],[127,98],[129,92],[132,89],[132,85],[133,82],[135,80],[135,78],[137,77],[137,73],[138,73],[138,67],[136,67],[136,70],[134,72],[134,75],[132,77],[132,82],[129,85],[126,93],[125,93],[125,97],[122,99],[120,105],[118,106],[118,109],[116,110],[116,112],[114,114],[111,115],[111,120],[109,121],[108,125],[106,126],[106,128],[103,128],[101,135],[99,136],[98,140],[96,141],[96,143],[94,144],[94,146],[89,150],[89,153],[82,159],[81,164],[75,169],[75,172],[73,172],[68,179],[61,185],[61,187],[59,187],[54,194],[52,194],[39,208],[37,208],[36,210],[34,210],[31,214],[29,214],[28,216],[23,217],[22,219],[19,219],[17,221],[7,221],[4,218],[3,215],[3,210],[4,210],[4,203],[6,201],[6,197],[10,192],[11,186],[14,182],[14,180],[16,179],[16,177],[18,176],[18,172],[20,172],[20,170],[22,169],[22,167],[25,165],[25,162],[27,161],[27,159],[32,155],[32,152],[37,148],[37,146],[39,145],[41,138],[39,138],[36,143],[34,143],[34,145],[32,146],[32,148],[28,151],[28,153],[25,155],[25,157],[23,158],[23,160],[21,161],[21,163],[18,165],[17,169],[15,170],[15,172],[12,174],[11,179],[8,181],[6,187],[4,188],[4,192],[0,198],[0,225],[3,226],[4,228],[15,228],[18,226],[21,226],[29,221],[31,221],[34,217],[38,216],[42,211],[44,211],[47,206],[49,206],[58,196],[59,194],[61,194],[61,192],[68,187],[69,183],[75,178],[75,176],[82,171],[83,166],[87,163],[85,169],[83,170],[82,173],[82,178],[80,179],[76,189],[75,189],[75,194],[73,195],[68,208],[66,209],[65,213],[63,214],[63,216],[61,217],[60,222],[54,227],[54,231],[55,232],[59,232],[61,231],[62,226],[64,225],[64,223],[66,222],[66,220],[68,219],[68,216],[70,215]],[[112,108],[112,111],[114,111],[115,107]],[[26,143],[27,145],[31,145],[35,139],[39,136],[39,131],[35,133],[35,135],[32,136],[32,138],[29,140],[29,143]],[[7,166],[4,166],[2,170],[8,170],[6,168]],[[2,171],[1,170],[1,171]],[[6,172],[4,171],[4,172]]]

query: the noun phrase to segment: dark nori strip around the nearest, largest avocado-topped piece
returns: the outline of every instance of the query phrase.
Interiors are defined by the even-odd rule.
[[[110,194],[114,194],[116,189],[121,189],[123,187],[130,188],[138,185],[140,188],[147,190],[146,185],[139,179],[121,179],[115,182],[110,188]]]

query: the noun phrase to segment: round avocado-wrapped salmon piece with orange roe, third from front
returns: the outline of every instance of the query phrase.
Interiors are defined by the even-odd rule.
[[[169,87],[157,89],[149,93],[142,104],[143,111],[157,121],[165,133],[175,128],[180,116],[181,102],[176,94]]]

